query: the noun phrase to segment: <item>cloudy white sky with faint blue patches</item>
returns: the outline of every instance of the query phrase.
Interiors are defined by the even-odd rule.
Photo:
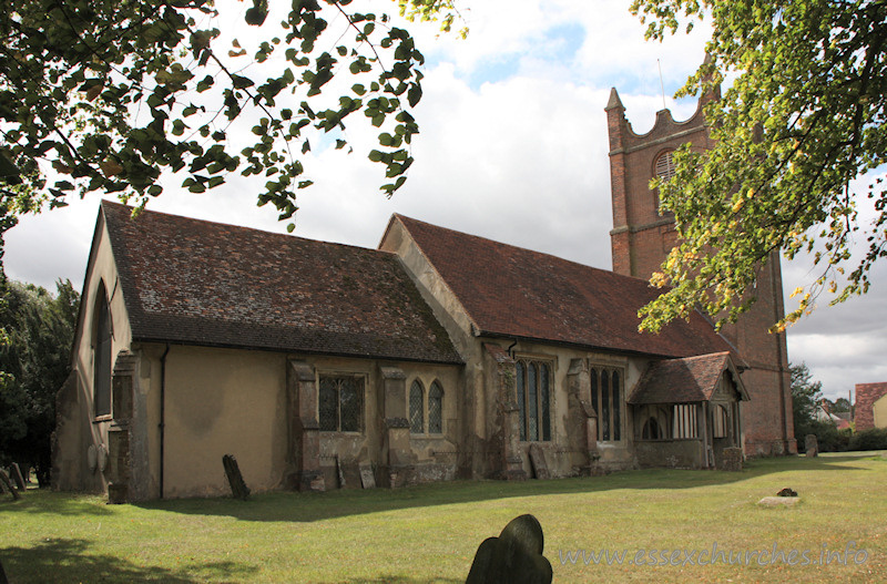
[[[367,1],[367,0],[365,0]],[[378,11],[392,2],[374,0]],[[223,35],[248,34],[251,4],[217,2]],[[414,114],[415,164],[394,197],[369,162],[378,130],[349,125],[354,152],[323,144],[305,157],[315,185],[298,195],[295,235],[376,247],[392,213],[570,260],[611,267],[610,171],[604,106],[619,91],[633,130],[648,132],[663,105],[689,119],[695,100],[671,96],[704,58],[710,29],[665,42],[644,41],[644,25],[612,0],[468,0],[458,6],[467,40],[410,30],[426,55],[424,98]],[[274,6],[274,3],[272,3]],[[274,14],[272,14],[273,21]],[[258,29],[259,31],[262,29]],[[244,47],[249,39],[239,38]],[[661,73],[660,73],[661,72]],[[663,93],[664,88],[664,93]],[[150,209],[286,232],[272,207],[257,207],[264,181],[239,176],[204,194],[166,191]],[[112,198],[112,197],[108,197]],[[6,237],[7,275],[54,289],[82,287],[100,197],[23,217]],[[865,297],[819,307],[788,330],[792,363],[805,362],[830,399],[855,383],[887,381],[887,260]],[[809,260],[783,260],[786,297],[816,277]],[[786,307],[793,308],[786,299]]]

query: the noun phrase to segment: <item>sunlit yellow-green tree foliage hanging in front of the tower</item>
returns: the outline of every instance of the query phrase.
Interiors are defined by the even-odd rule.
[[[708,59],[679,95],[735,78],[705,107],[714,146],[679,150],[675,177],[652,183],[681,243],[651,279],[671,289],[644,307],[642,326],[657,330],[696,306],[718,326],[735,320],[779,252],[806,250],[820,271],[795,290],[777,330],[826,290],[832,304],[867,291],[887,255],[887,192],[880,177],[854,181],[887,162],[887,2],[633,0],[631,10],[652,39],[711,19]],[[875,218],[860,225],[866,199]]]

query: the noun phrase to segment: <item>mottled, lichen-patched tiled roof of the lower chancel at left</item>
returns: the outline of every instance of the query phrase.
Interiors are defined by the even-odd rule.
[[[102,203],[133,340],[460,363],[392,254]]]

